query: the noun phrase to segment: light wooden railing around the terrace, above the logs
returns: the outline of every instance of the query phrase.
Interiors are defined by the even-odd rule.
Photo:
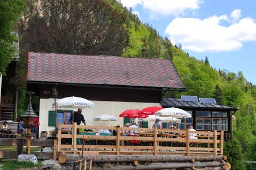
[[[64,128],[72,129],[72,134],[63,134]],[[77,134],[77,129],[109,129],[117,131],[117,135],[86,132]],[[125,136],[126,133],[122,131],[127,130],[136,130],[137,133],[133,136]],[[196,134],[198,139],[191,139],[189,137],[191,134]],[[61,143],[63,139],[69,143]],[[81,143],[78,143],[79,140]],[[223,155],[223,147],[223,131],[120,128],[76,124],[59,125],[57,131],[57,151],[74,152],[74,154],[84,151],[83,154],[96,155]]]

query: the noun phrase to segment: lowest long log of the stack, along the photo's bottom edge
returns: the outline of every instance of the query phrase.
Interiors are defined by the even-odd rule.
[[[196,162],[196,163],[152,163],[148,165],[112,165],[111,167],[104,167],[105,170],[124,170],[124,169],[171,169],[171,168],[192,168],[192,167],[211,167],[209,169],[222,169],[220,162]],[[196,168],[197,169],[197,168]],[[101,167],[93,167],[93,170],[102,170]]]

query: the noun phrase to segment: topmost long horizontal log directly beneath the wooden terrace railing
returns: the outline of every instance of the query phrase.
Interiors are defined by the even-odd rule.
[[[191,162],[194,161],[221,161],[222,156],[183,156],[183,155],[98,155],[84,156],[92,158],[94,163],[105,162]]]

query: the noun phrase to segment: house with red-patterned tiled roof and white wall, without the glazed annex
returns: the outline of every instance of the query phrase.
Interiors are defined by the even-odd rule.
[[[98,114],[118,117],[126,109],[160,106],[166,91],[184,91],[185,86],[169,59],[81,56],[55,53],[28,53],[28,91],[40,97],[40,129],[53,130],[56,114],[53,87],[58,99],[84,97],[95,104],[83,110],[88,125]],[[58,111],[58,121],[69,120],[72,111]],[[106,125],[123,125],[123,118]]]

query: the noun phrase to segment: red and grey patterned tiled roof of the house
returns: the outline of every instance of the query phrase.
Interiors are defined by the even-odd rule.
[[[169,59],[28,53],[27,81],[185,88]]]

